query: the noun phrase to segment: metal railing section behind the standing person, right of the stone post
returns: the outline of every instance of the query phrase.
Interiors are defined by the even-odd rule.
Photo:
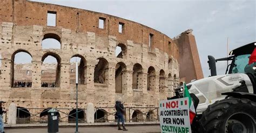
[[[95,122],[116,122],[117,115],[114,107],[95,107]],[[106,110],[110,110],[107,112]],[[140,111],[140,110],[145,110]],[[125,122],[159,121],[159,107],[126,107],[124,112]],[[97,112],[103,112],[104,115]],[[131,114],[132,113],[132,114]],[[99,116],[100,115],[100,116]],[[109,119],[112,116],[113,119]]]

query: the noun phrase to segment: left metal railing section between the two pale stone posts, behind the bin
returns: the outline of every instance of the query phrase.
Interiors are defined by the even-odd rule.
[[[17,124],[26,123],[47,123],[48,110],[51,108],[17,108]],[[56,108],[58,110],[59,122],[76,122],[76,109]],[[84,119],[86,109],[78,109],[78,122],[86,122]]]

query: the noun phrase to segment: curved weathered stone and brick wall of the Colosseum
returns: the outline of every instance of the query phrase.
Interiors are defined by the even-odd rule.
[[[126,107],[156,107],[160,99],[173,94],[173,87],[178,84],[178,47],[163,33],[104,13],[22,0],[1,2],[0,99],[7,101],[7,105],[13,102],[24,108],[75,108],[76,87],[70,82],[69,62],[73,56],[84,61],[84,82],[78,85],[79,108],[86,108],[88,102],[96,107],[113,107],[117,99],[122,99]],[[57,14],[55,27],[46,26],[48,11]],[[105,19],[104,29],[98,28],[99,17]],[[124,24],[123,33],[118,32],[119,22]],[[150,34],[153,34],[151,47]],[[47,38],[58,40],[61,48],[42,49],[42,40]],[[117,45],[125,47],[123,58],[115,56]],[[30,88],[13,87],[14,57],[22,51],[32,57]],[[42,61],[48,55],[56,57],[58,62],[56,87],[50,89],[41,87],[42,80],[49,78],[42,75]],[[97,59],[105,61],[99,70],[95,69],[100,62]],[[123,64],[120,65],[122,72],[119,72],[122,79],[117,76],[122,84],[116,84],[118,63]],[[141,69],[134,70],[134,64],[140,65]],[[150,77],[149,68],[152,70]],[[97,73],[104,73],[98,78],[104,83],[95,83]],[[149,85],[148,81],[151,82]],[[136,88],[133,83],[137,83]],[[122,93],[116,91],[116,85],[122,85]]]

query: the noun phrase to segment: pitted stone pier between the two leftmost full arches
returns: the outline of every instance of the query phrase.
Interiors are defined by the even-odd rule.
[[[42,62],[32,61],[32,87],[33,88],[41,87],[41,71],[42,71]]]

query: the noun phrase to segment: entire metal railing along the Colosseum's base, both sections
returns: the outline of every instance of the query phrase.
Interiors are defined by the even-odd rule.
[[[17,108],[17,124],[47,123],[48,110],[51,108]],[[76,122],[76,109],[56,108],[59,122]],[[126,107],[124,119],[126,122],[158,122],[159,107]],[[78,109],[78,122],[86,123],[86,109]],[[114,107],[95,107],[95,122],[116,122],[116,109]]]

